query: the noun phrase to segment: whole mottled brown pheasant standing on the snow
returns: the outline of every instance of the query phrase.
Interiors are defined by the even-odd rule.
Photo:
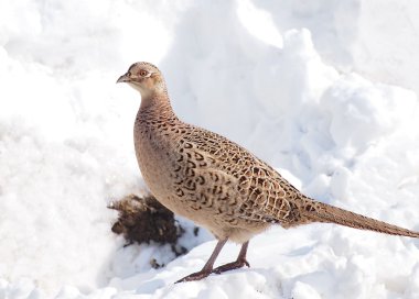
[[[219,241],[201,272],[180,281],[248,265],[248,241],[277,223],[283,228],[312,222],[419,237],[398,228],[314,201],[272,167],[236,143],[187,124],[174,114],[159,69],[133,64],[118,82],[140,91],[135,145],[141,174],[155,198],[173,212],[208,229]],[[213,269],[227,240],[243,243],[236,262]]]

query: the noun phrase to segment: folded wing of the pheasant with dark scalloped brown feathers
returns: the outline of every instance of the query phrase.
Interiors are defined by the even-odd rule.
[[[183,185],[192,187],[206,206],[248,221],[279,222],[292,226],[300,221],[305,197],[272,167],[240,145],[216,133],[193,126],[179,140],[182,148]],[[300,204],[301,203],[301,204]]]

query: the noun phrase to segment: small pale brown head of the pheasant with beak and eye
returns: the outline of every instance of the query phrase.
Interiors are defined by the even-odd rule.
[[[127,82],[140,91],[142,98],[165,91],[165,82],[160,70],[149,63],[136,63],[126,74],[119,77],[117,84]]]

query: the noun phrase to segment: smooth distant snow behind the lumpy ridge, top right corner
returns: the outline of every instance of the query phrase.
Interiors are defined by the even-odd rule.
[[[255,1],[286,32],[307,27],[337,69],[419,92],[419,7],[409,0]]]

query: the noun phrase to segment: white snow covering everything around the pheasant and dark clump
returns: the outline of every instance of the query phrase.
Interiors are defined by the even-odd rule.
[[[418,240],[272,228],[250,242],[251,268],[174,285],[215,241],[189,232],[201,245],[175,259],[123,247],[106,208],[146,191],[140,96],[115,81],[148,60],[185,121],[318,200],[419,231],[418,13],[407,0],[1,1],[0,298],[419,298]]]

